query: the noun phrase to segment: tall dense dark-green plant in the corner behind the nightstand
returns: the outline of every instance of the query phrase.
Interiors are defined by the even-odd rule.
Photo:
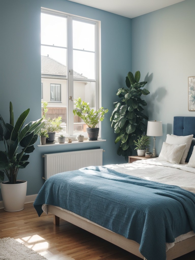
[[[139,82],[140,72],[137,71],[135,76],[129,72],[126,77],[127,88],[119,88],[116,95],[121,99],[120,102],[114,102],[115,109],[112,113],[110,121],[112,128],[118,134],[115,144],[121,142],[117,150],[118,155],[132,155],[132,145],[134,140],[145,130],[144,119],[148,117],[142,113],[143,106],[147,103],[141,99],[141,95],[148,95],[149,91],[145,88],[147,81]]]

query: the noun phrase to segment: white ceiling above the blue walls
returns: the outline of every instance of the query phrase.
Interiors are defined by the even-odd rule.
[[[185,0],[69,0],[114,14],[134,18]]]

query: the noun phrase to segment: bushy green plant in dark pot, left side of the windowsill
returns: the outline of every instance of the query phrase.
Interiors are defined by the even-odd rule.
[[[62,117],[59,116],[58,118],[50,119],[48,118],[46,121],[44,121],[43,128],[47,130],[48,137],[46,138],[47,143],[53,143],[55,140],[55,134],[56,131],[59,131],[62,129],[60,126],[62,123]]]

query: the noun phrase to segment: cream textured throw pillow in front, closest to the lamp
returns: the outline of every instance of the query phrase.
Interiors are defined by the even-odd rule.
[[[163,142],[162,149],[158,159],[159,161],[166,161],[166,162],[179,164],[185,148],[186,148],[186,144],[170,145],[167,144],[166,142]]]

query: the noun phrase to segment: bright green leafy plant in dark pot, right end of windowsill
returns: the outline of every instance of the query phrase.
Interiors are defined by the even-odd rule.
[[[79,97],[76,100],[76,108],[74,109],[73,113],[74,115],[79,116],[84,123],[87,124],[87,135],[88,140],[95,141],[97,140],[98,134],[99,134],[99,127],[97,127],[97,124],[100,121],[103,121],[105,113],[108,112],[107,108],[100,107],[99,109],[95,110],[93,108],[89,107],[89,103],[86,103],[84,101],[81,101],[81,98]]]

